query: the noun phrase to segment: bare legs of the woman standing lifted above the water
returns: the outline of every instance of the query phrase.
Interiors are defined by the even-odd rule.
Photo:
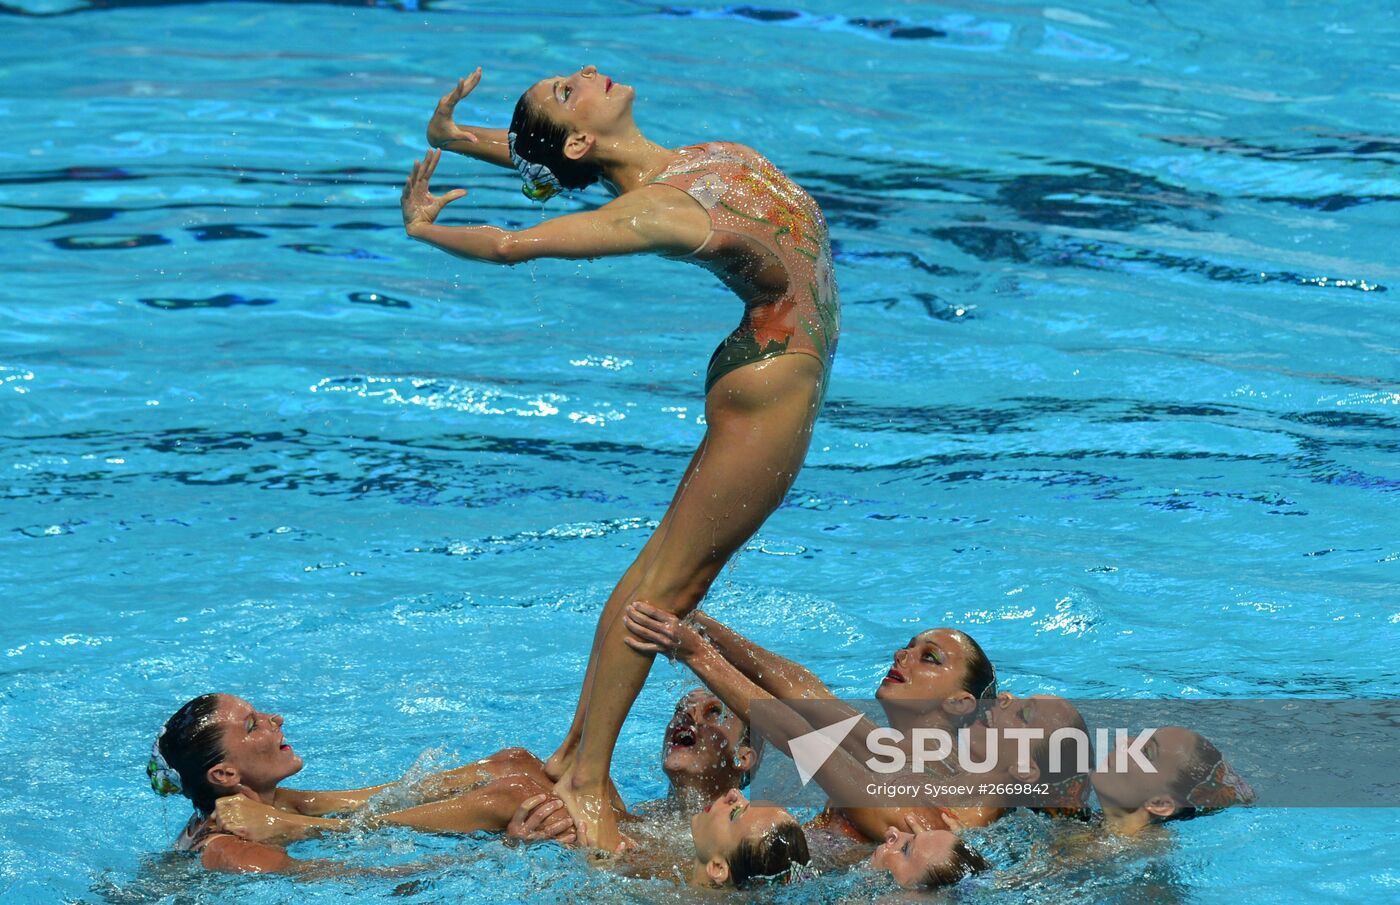
[[[686,615],[704,598],[724,563],[778,507],[806,458],[822,399],[822,364],[783,354],[722,377],[706,398],[707,430],[680,482],[636,590],[644,600]],[[629,601],[630,602],[630,601]],[[580,842],[615,849],[617,827],[603,807],[612,752],[623,720],[651,668],[651,654],[631,650],[620,618],[603,629],[574,764],[554,786]]]

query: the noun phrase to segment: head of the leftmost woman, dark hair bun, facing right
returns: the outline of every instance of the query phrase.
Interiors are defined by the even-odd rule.
[[[210,814],[218,799],[241,787],[272,790],[301,766],[279,714],[232,695],[200,695],[165,720],[146,772],[155,792],[183,794]]]

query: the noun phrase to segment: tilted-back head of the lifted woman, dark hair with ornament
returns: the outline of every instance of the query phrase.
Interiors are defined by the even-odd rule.
[[[634,97],[631,85],[615,83],[594,66],[531,85],[515,104],[508,133],[525,196],[543,202],[598,182],[599,148],[637,133]]]

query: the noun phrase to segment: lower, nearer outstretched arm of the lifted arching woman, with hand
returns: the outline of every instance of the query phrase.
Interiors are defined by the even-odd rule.
[[[605,258],[609,255],[683,254],[710,234],[710,217],[680,192],[662,185],[627,192],[598,210],[554,217],[511,233],[497,227],[444,227],[434,223],[442,209],[466,195],[454,189],[433,195],[428,181],[442,151],[428,151],[399,196],[403,230],[434,248],[486,263],[521,263],[536,258]]]

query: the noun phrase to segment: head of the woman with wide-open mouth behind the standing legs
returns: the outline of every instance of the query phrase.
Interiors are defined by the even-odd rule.
[[[699,782],[714,783],[710,789],[736,786],[753,766],[753,751],[742,740],[743,720],[708,691],[696,689],[676,702],[661,766],[675,786]]]

